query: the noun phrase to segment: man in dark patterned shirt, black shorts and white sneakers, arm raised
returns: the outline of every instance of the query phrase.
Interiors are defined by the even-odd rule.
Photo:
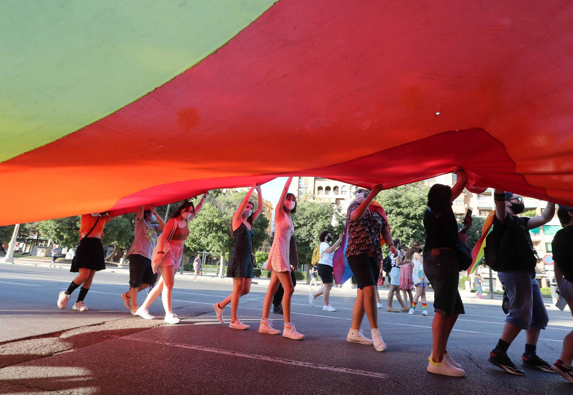
[[[382,240],[390,246],[390,251],[398,255],[392,241],[384,209],[372,200],[382,191],[382,184],[375,185],[372,191],[356,189],[356,200],[348,206],[346,259],[358,284],[358,292],[352,309],[352,324],[346,336],[347,342],[373,344],[376,351],[386,350],[378,330],[375,287],[382,260]],[[372,339],[366,338],[360,330],[364,313],[368,317]]]

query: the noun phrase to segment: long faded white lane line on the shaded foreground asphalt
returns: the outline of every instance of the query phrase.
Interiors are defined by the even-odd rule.
[[[332,371],[332,372],[336,372],[336,373],[356,374],[356,375],[362,375],[362,376],[374,377],[374,378],[388,378],[388,375],[382,374],[382,373],[377,373],[374,371],[356,370],[356,369],[349,369],[347,367],[338,367],[338,366],[330,366],[330,365],[320,365],[319,363],[293,361],[292,359],[267,357],[266,355],[239,353],[237,351],[221,350],[220,348],[194,346],[192,344],[164,342],[162,340],[136,338],[135,336],[123,336],[123,338],[121,338],[121,339],[134,340],[136,342],[143,342],[143,343],[160,344],[162,346],[187,348],[190,350],[205,351],[207,353],[230,355],[231,357],[242,357],[242,358],[258,359],[259,361],[265,361],[265,362],[284,363],[285,365],[300,366],[300,367],[304,367],[304,368],[312,368],[312,369],[319,369],[319,370],[327,370],[327,371]]]

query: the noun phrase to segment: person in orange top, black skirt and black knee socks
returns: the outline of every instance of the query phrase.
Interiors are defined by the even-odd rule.
[[[99,270],[105,269],[104,247],[101,245],[101,238],[104,237],[104,226],[115,216],[110,216],[105,212],[92,212],[83,214],[80,217],[80,244],[77,247],[76,255],[72,260],[70,272],[79,273],[68,289],[58,295],[57,306],[65,309],[72,292],[80,285],[80,293],[72,309],[76,311],[88,311],[84,303],[85,296],[92,286],[93,276]]]

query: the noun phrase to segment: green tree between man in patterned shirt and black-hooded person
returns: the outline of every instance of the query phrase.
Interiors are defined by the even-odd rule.
[[[422,183],[414,183],[386,189],[376,197],[386,211],[392,237],[400,239],[404,246],[409,247],[414,241],[423,243],[426,239],[423,215],[429,190]]]

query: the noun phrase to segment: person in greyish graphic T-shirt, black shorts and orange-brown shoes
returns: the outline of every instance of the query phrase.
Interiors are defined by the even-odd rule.
[[[155,206],[151,206],[150,210],[144,210],[144,208],[144,206],[138,208],[134,223],[135,238],[127,253],[129,290],[121,294],[121,300],[133,315],[138,311],[138,293],[155,284],[157,274],[151,268],[151,254],[157,243],[158,234],[165,226]],[[155,221],[159,223],[154,223]]]

